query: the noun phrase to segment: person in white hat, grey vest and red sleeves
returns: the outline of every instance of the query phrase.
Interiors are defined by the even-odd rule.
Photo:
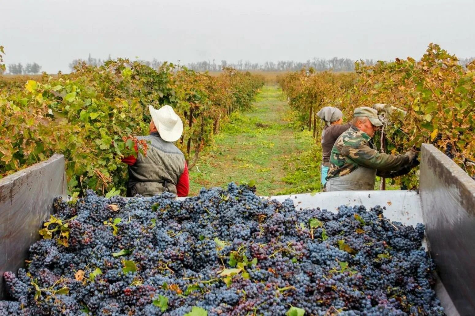
[[[156,110],[149,106],[150,135],[137,137],[149,144],[147,155],[137,154],[122,161],[129,165],[127,196],[153,196],[165,191],[187,196],[190,191],[185,156],[173,142],[180,139],[183,122],[170,105]],[[138,152],[137,145],[135,150]]]

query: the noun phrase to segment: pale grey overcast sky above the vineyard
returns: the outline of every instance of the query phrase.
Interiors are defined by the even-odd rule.
[[[475,56],[474,0],[0,0],[5,63]]]

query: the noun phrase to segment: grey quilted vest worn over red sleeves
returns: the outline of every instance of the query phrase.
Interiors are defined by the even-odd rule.
[[[141,153],[129,166],[127,196],[153,196],[168,191],[177,194],[177,183],[185,169],[185,156],[172,142],[160,138],[157,132],[137,137],[149,143],[147,156]]]

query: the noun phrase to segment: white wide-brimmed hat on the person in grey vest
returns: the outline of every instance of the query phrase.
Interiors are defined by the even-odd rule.
[[[176,141],[180,139],[183,133],[183,122],[170,105],[163,105],[160,109],[155,110],[149,105],[149,111],[152,120],[157,127],[160,137],[166,141]]]

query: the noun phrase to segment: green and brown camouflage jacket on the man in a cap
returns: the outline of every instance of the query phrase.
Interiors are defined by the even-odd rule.
[[[376,169],[381,177],[409,165],[407,155],[387,155],[376,150],[371,137],[352,125],[335,141],[327,180],[349,174],[359,166]],[[395,176],[395,173],[392,173]]]

